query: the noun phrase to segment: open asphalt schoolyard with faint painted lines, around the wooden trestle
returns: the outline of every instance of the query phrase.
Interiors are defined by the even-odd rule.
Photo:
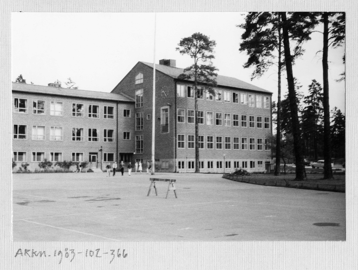
[[[345,240],[345,193],[221,174],[13,174],[14,241]],[[150,177],[156,182],[147,196]]]

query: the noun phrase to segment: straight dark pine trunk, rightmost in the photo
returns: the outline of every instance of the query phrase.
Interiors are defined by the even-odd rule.
[[[324,123],[324,167],[323,179],[333,179],[331,165],[329,94],[328,94],[328,12],[323,12],[323,123]]]

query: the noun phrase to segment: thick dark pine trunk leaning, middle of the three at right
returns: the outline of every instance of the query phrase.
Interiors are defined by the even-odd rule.
[[[289,30],[287,26],[286,12],[280,12],[282,16],[282,38],[284,40],[285,64],[287,72],[288,97],[292,118],[292,135],[294,140],[294,152],[296,159],[296,181],[307,180],[306,170],[303,164],[300,122],[298,118],[298,106],[296,103],[295,83],[292,72],[292,57],[290,53]]]

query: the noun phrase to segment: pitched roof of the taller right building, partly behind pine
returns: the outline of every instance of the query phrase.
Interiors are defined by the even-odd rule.
[[[150,66],[153,68],[153,64],[152,63],[147,63],[147,62],[141,62],[147,66]],[[178,78],[178,76],[180,74],[183,73],[184,69],[180,69],[178,67],[171,67],[171,66],[166,66],[166,65],[155,65],[155,70],[158,70],[160,72],[163,72],[164,74],[173,77],[173,78]],[[260,87],[257,87],[255,85],[249,84],[245,81],[241,81],[238,80],[236,78],[233,77],[227,77],[227,76],[222,76],[222,75],[218,75],[216,77],[216,82],[219,86],[227,86],[227,87],[234,87],[234,88],[240,88],[240,89],[246,89],[246,90],[253,90],[253,91],[260,91],[260,92],[266,92],[269,94],[272,94],[272,92],[267,91],[265,89],[262,89]]]

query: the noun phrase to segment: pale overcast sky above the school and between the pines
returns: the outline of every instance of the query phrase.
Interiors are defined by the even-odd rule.
[[[246,53],[238,50],[243,12],[175,12],[156,15],[156,64],[175,59],[177,67],[192,64],[175,48],[180,39],[200,32],[215,40],[214,66],[219,75],[235,77],[273,92],[277,100],[277,69],[250,81],[252,69],[244,69]],[[138,61],[154,60],[154,13],[40,13],[12,14],[12,76],[22,74],[27,83],[47,85],[68,77],[79,89],[110,92]],[[323,85],[322,34],[313,33],[296,61],[294,76],[307,95],[313,79]],[[344,71],[344,47],[329,50],[330,108],[345,111],[345,85],[335,82]],[[282,76],[282,97],[287,92]]]

